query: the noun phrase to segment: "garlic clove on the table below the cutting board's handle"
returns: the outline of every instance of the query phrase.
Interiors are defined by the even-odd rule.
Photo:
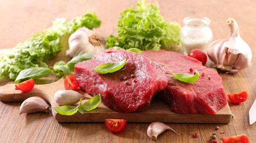
[[[20,106],[20,114],[35,113],[35,112],[49,112],[49,105],[40,97],[27,98]]]

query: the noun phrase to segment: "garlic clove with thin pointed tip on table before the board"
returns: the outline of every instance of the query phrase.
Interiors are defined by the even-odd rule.
[[[175,132],[175,130],[173,130],[172,128],[170,128],[169,126],[167,126],[164,123],[154,122],[148,126],[147,134],[148,134],[148,137],[150,137],[152,140],[156,140],[157,136],[166,130],[171,130],[171,131]],[[175,133],[178,134],[177,132],[175,132]],[[180,135],[180,134],[178,134],[178,135]]]

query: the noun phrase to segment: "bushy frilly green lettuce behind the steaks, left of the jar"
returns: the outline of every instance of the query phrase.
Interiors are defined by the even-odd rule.
[[[172,50],[180,46],[180,25],[177,22],[166,22],[159,12],[157,3],[145,4],[145,0],[139,0],[137,9],[131,7],[120,14],[118,36],[108,36],[106,47]]]

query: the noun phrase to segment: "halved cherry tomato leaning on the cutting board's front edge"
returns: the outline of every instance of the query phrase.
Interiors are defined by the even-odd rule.
[[[125,128],[126,120],[121,119],[105,119],[105,126],[111,132],[119,132]]]

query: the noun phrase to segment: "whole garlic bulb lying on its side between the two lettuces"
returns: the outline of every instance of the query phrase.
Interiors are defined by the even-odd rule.
[[[70,49],[66,51],[66,55],[70,58],[84,53],[99,53],[106,49],[105,39],[88,28],[79,28],[70,36],[68,43]]]

